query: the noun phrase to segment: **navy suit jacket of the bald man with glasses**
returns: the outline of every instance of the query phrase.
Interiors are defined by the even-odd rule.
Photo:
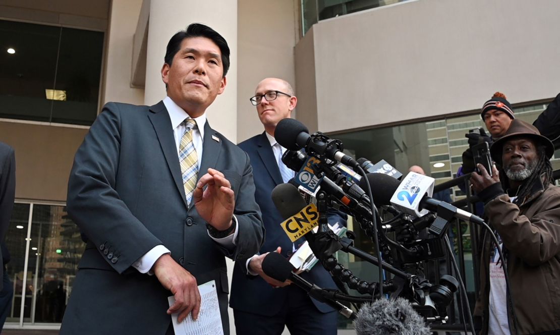
[[[253,166],[255,199],[260,206],[266,230],[265,242],[260,253],[273,252],[281,246],[282,254],[287,256],[287,253],[292,252],[293,244],[280,226],[284,219],[274,207],[270,197],[272,189],[283,183],[270,142],[263,132],[239,143],[239,147],[248,153]],[[342,213],[340,216],[329,216],[329,223],[336,221],[346,225],[346,217],[343,217]],[[260,315],[277,314],[286,302],[288,290],[273,289],[263,278],[250,276],[246,271],[245,262],[237,262],[231,283],[231,308]],[[309,273],[304,272],[301,276],[323,289],[336,289],[332,277],[320,263],[316,264]],[[330,306],[312,300],[321,312],[333,311]]]

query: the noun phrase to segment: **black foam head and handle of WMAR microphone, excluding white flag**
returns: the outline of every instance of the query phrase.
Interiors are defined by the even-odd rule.
[[[395,178],[381,174],[381,173],[368,173],[367,175],[367,182],[370,183],[371,188],[375,188],[375,196],[374,201],[377,204],[391,204],[391,198],[393,194],[398,191],[399,189],[399,181]],[[362,182],[365,182],[362,179]],[[454,216],[456,218],[460,218],[461,220],[470,221],[474,224],[482,225],[484,220],[482,218],[474,215],[473,213],[461,210],[455,206],[452,206],[445,201],[440,201],[428,196],[424,196],[420,201],[419,208],[426,209],[428,211],[437,212],[438,206],[440,204],[444,205],[446,208],[454,211]]]

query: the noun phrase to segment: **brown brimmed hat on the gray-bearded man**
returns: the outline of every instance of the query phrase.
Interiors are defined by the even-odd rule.
[[[550,142],[550,139],[542,136],[534,125],[526,123],[520,119],[514,119],[510,123],[510,128],[507,129],[506,134],[492,144],[492,147],[490,148],[490,155],[492,156],[492,159],[501,164],[503,145],[510,139],[516,137],[531,138],[537,142],[537,145],[544,145],[545,153],[549,159],[554,154],[554,145]]]

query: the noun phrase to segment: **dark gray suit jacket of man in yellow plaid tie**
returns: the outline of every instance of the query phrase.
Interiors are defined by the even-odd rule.
[[[67,210],[87,241],[60,334],[165,334],[165,290],[131,265],[158,244],[199,284],[216,281],[228,333],[225,256],[246,258],[262,245],[253,171],[240,148],[206,124],[199,177],[222,171],[235,192],[236,248],[213,241],[185,200],[171,121],[165,105],[108,103],[74,158]]]

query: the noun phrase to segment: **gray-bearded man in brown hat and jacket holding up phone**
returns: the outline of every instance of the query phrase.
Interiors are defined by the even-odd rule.
[[[470,178],[498,236],[510,280],[489,233],[482,240],[480,292],[474,315],[482,334],[557,334],[560,331],[560,188],[552,185],[554,146],[519,119],[493,143],[501,166],[482,165]],[[513,306],[513,308],[511,308]]]

